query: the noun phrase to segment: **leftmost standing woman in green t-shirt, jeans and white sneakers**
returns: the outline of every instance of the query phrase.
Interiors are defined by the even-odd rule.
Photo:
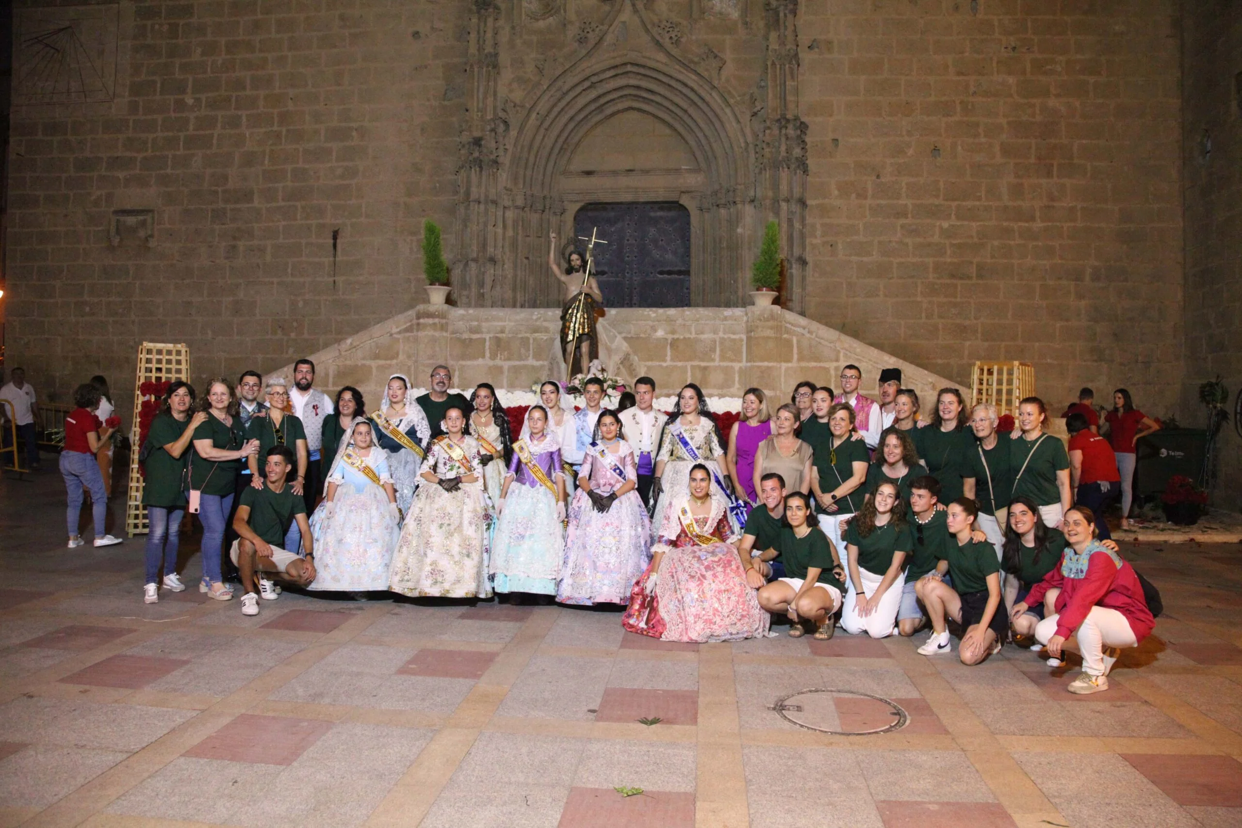
[[[185,449],[190,447],[194,430],[207,420],[196,411],[194,386],[178,380],[168,386],[164,411],[155,416],[147,431],[143,462],[143,505],[147,506],[147,581],[143,601],[159,601],[159,569],[164,565],[164,588],[184,592],[185,585],[176,576],[176,549],[181,518],[185,516]]]

